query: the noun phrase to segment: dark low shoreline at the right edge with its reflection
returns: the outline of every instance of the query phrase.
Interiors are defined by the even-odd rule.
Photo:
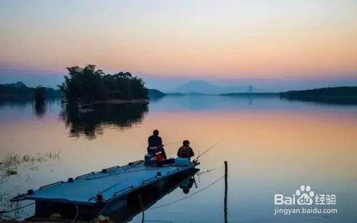
[[[288,100],[306,100],[319,103],[357,104],[357,87],[318,88],[312,90],[290,90],[281,93]]]

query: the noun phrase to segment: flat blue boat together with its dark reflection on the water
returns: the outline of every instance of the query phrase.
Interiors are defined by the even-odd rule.
[[[34,217],[48,218],[56,213],[63,219],[91,221],[101,214],[114,222],[125,222],[197,171],[193,162],[157,167],[146,166],[139,160],[29,190],[12,200],[35,200]]]

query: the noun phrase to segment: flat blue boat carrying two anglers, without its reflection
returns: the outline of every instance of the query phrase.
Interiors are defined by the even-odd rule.
[[[183,179],[196,173],[196,165],[196,162],[145,165],[144,160],[138,160],[121,167],[110,167],[75,179],[69,178],[66,182],[45,185],[39,190],[29,190],[11,201],[36,201],[36,217],[61,213],[66,219],[78,215],[91,218],[99,212],[110,214],[125,207],[128,197],[133,194],[148,193],[160,189],[172,179]]]

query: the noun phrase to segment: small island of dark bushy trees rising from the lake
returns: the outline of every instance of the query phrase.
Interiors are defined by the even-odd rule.
[[[69,103],[147,103],[149,90],[144,81],[128,72],[104,73],[95,65],[66,68],[59,89]]]

